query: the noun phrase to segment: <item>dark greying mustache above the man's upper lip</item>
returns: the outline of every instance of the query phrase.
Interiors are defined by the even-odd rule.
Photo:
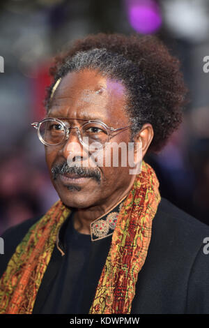
[[[56,179],[58,174],[72,173],[77,174],[78,177],[89,177],[95,179],[95,181],[100,184],[101,181],[101,173],[99,170],[93,170],[88,167],[81,166],[69,166],[67,162],[53,165],[52,167],[52,179]]]

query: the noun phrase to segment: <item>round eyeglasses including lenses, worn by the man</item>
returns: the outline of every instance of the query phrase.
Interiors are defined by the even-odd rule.
[[[31,126],[36,128],[40,141],[46,146],[56,146],[61,144],[65,140],[68,140],[70,131],[72,128],[76,129],[79,142],[86,148],[89,149],[93,142],[97,143],[97,149],[104,147],[106,142],[117,135],[118,133],[127,130],[130,126],[123,128],[110,128],[103,122],[88,120],[88,119],[77,119],[81,121],[87,121],[82,126],[71,126],[61,121],[61,119],[68,120],[69,118],[54,119],[48,117],[40,122],[32,123]],[[120,131],[114,134],[116,131]]]

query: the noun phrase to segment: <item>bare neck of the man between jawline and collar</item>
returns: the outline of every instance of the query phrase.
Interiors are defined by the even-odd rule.
[[[91,234],[90,225],[97,218],[100,218],[107,214],[109,211],[114,209],[120,202],[122,202],[125,197],[130,192],[136,175],[132,176],[130,184],[125,188],[124,191],[121,190],[111,195],[108,200],[105,200],[103,204],[88,209],[77,209],[74,215],[74,228],[82,234]],[[114,197],[113,197],[114,196]],[[113,201],[114,198],[114,201]]]

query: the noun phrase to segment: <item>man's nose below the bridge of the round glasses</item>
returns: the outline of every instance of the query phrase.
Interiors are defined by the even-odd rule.
[[[88,154],[79,141],[79,129],[77,127],[69,128],[68,140],[63,144],[61,152],[66,161],[70,163],[78,163],[88,159]]]

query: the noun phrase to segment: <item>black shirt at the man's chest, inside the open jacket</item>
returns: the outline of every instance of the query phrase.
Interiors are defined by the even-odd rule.
[[[59,272],[52,281],[41,313],[79,313],[86,267],[91,252],[91,236],[80,234],[68,218],[65,230],[66,251]]]

